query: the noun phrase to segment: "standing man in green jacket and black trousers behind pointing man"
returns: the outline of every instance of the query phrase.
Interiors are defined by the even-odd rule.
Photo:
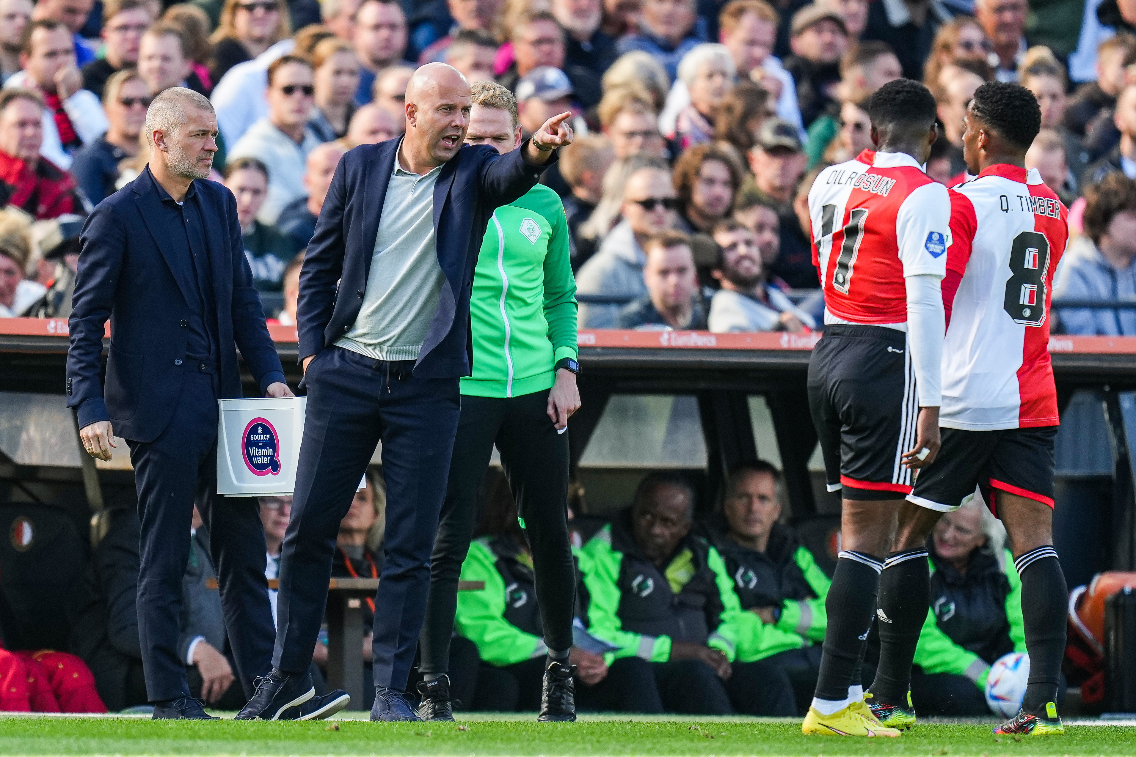
[[[477,82],[471,101],[466,142],[501,153],[520,146],[517,101],[509,90]],[[567,430],[568,417],[579,407],[579,365],[568,246],[560,197],[538,184],[496,209],[478,253],[469,303],[473,376],[461,379],[461,417],[419,639],[423,720],[452,720],[445,672],[458,575],[494,445],[532,548],[535,587],[544,597],[540,614],[548,659],[540,720],[576,720]]]

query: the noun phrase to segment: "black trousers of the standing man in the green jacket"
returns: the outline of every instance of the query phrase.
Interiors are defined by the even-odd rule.
[[[548,402],[548,389],[508,398],[461,397],[449,486],[431,557],[429,602],[420,641],[423,673],[448,670],[458,577],[469,552],[477,490],[494,444],[533,554],[544,644],[549,649],[571,647],[576,567],[568,538],[568,434],[557,434],[545,413]]]

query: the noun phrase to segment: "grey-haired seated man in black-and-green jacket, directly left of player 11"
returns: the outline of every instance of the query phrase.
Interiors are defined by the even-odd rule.
[[[775,665],[771,674],[792,685],[803,715],[817,688],[830,581],[796,532],[778,522],[783,496],[780,471],[762,460],[741,463],[705,533],[726,561],[743,614],[759,619],[738,637],[737,659]]]

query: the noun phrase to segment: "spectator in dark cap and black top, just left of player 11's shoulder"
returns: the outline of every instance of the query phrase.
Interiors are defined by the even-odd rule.
[[[780,222],[780,254],[770,266],[770,272],[794,288],[816,288],[818,279],[812,250],[793,211],[793,192],[808,160],[796,127],[779,118],[767,118],[747,157],[753,186],[765,202],[777,208]]]

